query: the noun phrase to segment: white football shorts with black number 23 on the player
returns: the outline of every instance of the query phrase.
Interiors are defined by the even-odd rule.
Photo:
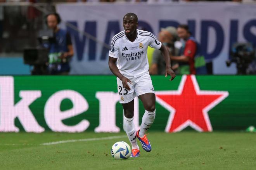
[[[128,85],[131,88],[130,91],[123,87],[122,81],[118,77],[116,79],[118,84],[119,103],[129,103],[136,96],[138,97],[145,93],[155,93],[148,73],[142,76],[127,78],[132,82],[132,84],[128,82]]]

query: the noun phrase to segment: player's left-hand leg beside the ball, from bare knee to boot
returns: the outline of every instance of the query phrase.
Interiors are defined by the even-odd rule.
[[[140,150],[136,140],[135,125],[133,123],[134,101],[132,100],[129,103],[124,103],[122,105],[125,112],[123,128],[131,142],[131,157],[138,157],[140,156]]]

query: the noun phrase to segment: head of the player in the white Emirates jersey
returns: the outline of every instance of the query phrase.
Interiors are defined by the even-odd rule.
[[[123,17],[123,26],[126,34],[133,34],[138,26],[138,17],[134,13],[125,14]]]

